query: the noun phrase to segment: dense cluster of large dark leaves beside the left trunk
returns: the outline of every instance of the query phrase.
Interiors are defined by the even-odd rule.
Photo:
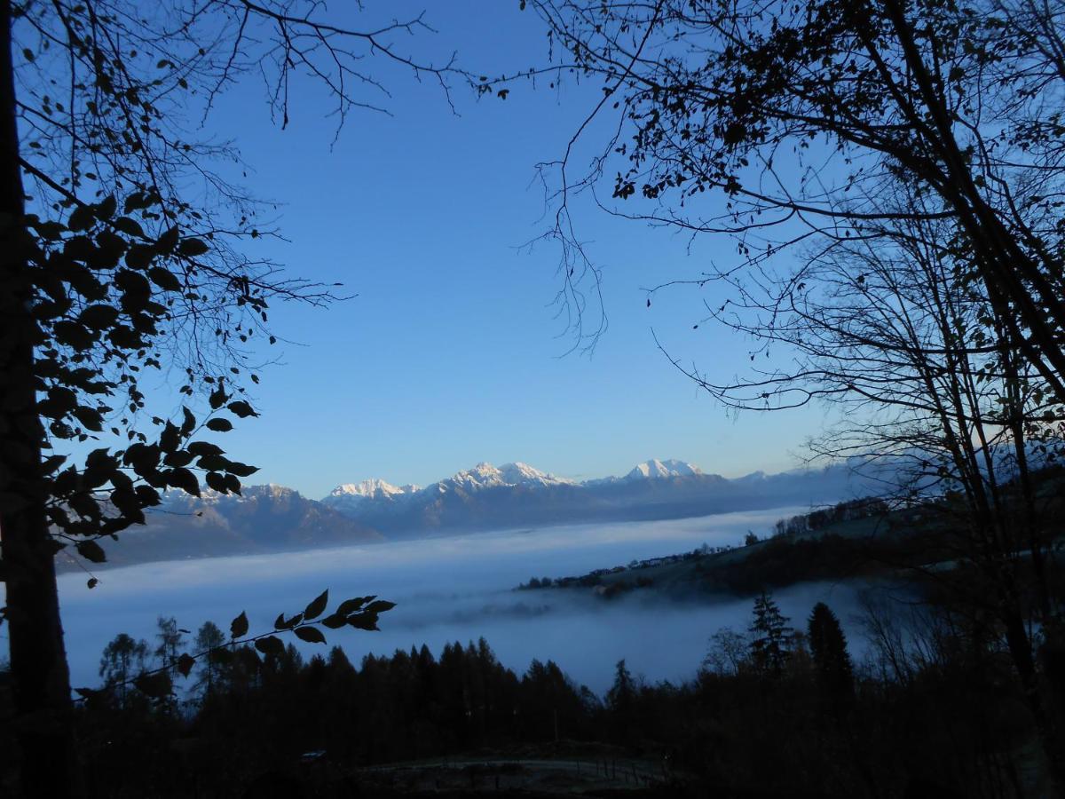
[[[78,203],[63,223],[31,216],[23,237],[38,335],[37,407],[52,447],[101,435],[125,441],[92,451],[83,464],[64,468],[67,457],[60,454],[44,464],[50,524],[93,561],[104,559],[96,539],[142,523],[144,508],[159,504],[161,491],[199,495],[195,471],[224,493],[240,492],[240,478],[256,471],[195,438],[232,429],[230,418],[256,415],[240,397],[243,389],[226,375],[199,376],[213,388],[206,419],[185,406],[177,422],[152,417],[162,429],[150,439],[135,427],[146,404],[144,372],[164,368],[161,347],[176,315],[206,299],[198,275],[206,268],[200,258],[211,249],[178,225],[150,235],[137,216],[159,219],[158,198],[134,193],[121,212],[114,196]],[[260,295],[249,291],[243,299],[265,320]],[[180,393],[191,397],[193,368],[186,377]]]

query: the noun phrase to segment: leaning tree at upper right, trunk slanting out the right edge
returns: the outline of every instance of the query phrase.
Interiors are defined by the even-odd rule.
[[[1063,231],[1051,199],[1065,179],[1065,69],[1052,4],[529,6],[551,29],[555,63],[604,88],[560,162],[544,165],[560,183],[553,234],[567,245],[568,276],[584,258],[569,202],[601,179],[616,202],[602,207],[731,235],[743,265],[798,242],[862,239],[869,224],[947,219],[944,244],[966,252],[1006,337],[1065,402]],[[601,157],[574,172],[577,142],[601,131]],[[922,201],[876,203],[896,180]]]

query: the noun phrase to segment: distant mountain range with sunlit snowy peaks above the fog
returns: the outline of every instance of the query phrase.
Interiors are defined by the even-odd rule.
[[[727,479],[681,460],[648,460],[623,476],[576,482],[527,463],[478,463],[429,486],[373,478],[321,501],[283,486],[242,494],[168,491],[148,521],[106,544],[114,565],[373,543],[433,534],[675,519],[818,505],[869,493],[846,464]],[[76,568],[61,557],[63,570]]]

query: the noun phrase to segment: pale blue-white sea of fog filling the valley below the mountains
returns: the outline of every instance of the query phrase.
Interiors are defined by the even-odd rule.
[[[600,694],[621,658],[648,681],[683,681],[695,673],[714,632],[748,626],[749,600],[675,602],[636,591],[604,601],[590,590],[512,589],[534,576],[583,574],[704,542],[738,544],[748,531],[761,535],[776,519],[801,510],[147,564],[102,571],[92,590],[84,574],[64,574],[60,593],[71,680],[76,686],[99,684],[100,652],[117,633],[143,637],[154,648],[159,616],[174,616],[179,626],[194,632],[210,619],[228,632],[229,621],[246,610],[251,632],[267,632],[279,613],[301,610],[328,588],[331,607],[370,593],[397,603],[381,616],[380,632],[326,631],[329,646],[342,646],[355,663],[366,653],[391,654],[422,643],[439,655],[448,641],[484,636],[499,661],[519,673],[532,658],[550,658]],[[796,626],[805,626],[818,601],[828,602],[846,622],[855,594],[843,584],[818,584],[782,590],[776,599]],[[305,654],[326,652],[321,645],[294,642]]]

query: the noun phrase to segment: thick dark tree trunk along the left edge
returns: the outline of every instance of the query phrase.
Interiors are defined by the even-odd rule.
[[[29,305],[11,26],[11,2],[0,0],[0,553],[22,792],[62,798],[82,790],[54,547],[45,513],[45,437],[33,376],[39,331]]]

